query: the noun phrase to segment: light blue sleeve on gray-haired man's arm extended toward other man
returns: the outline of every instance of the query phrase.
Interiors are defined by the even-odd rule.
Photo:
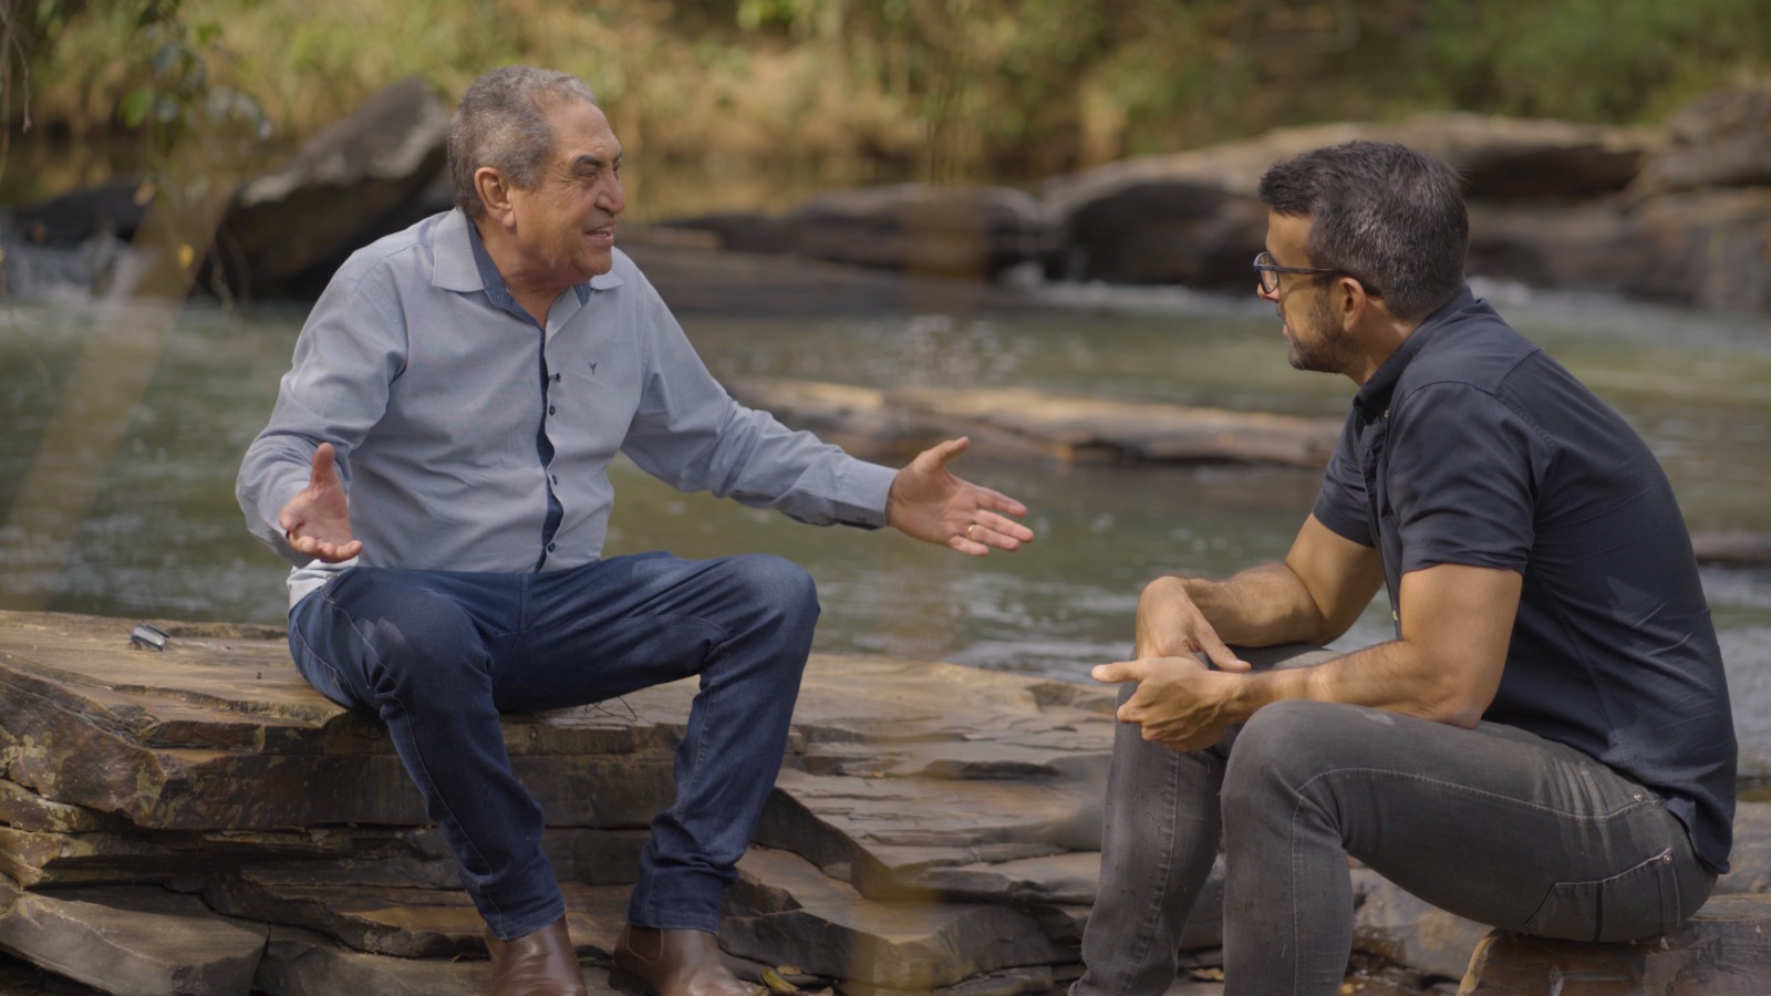
[[[896,470],[855,459],[726,393],[657,294],[645,308],[639,408],[622,450],[680,491],[710,491],[811,525],[886,525]]]

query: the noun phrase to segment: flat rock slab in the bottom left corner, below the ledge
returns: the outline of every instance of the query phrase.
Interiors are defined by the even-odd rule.
[[[106,992],[246,992],[267,934],[158,888],[0,893],[0,946]]]

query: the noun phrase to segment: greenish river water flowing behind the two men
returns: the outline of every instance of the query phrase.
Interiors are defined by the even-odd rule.
[[[1771,533],[1771,328],[1762,315],[1477,289],[1649,440],[1693,530]],[[1341,416],[1353,392],[1344,377],[1291,370],[1270,307],[1252,296],[1075,285],[1031,294],[1043,307],[692,314],[684,324],[719,376],[1036,386],[1325,416]],[[0,305],[0,608],[280,622],[283,569],[246,535],[232,484],[303,315],[296,305],[232,312],[200,301],[175,315],[78,298]],[[138,377],[96,377],[94,363],[138,367]],[[96,397],[67,401],[81,392]],[[110,416],[115,440],[103,432],[106,402],[120,413]],[[51,452],[69,447],[51,431],[58,406],[62,429],[73,425],[90,450],[81,459]],[[1130,652],[1144,581],[1280,556],[1318,484],[1314,471],[1289,468],[1029,463],[985,450],[958,471],[1025,502],[1038,541],[972,560],[889,532],[809,528],[680,494],[620,463],[607,553],[779,553],[818,581],[820,650],[1086,681],[1091,665]],[[85,514],[69,517],[69,509]],[[34,525],[57,510],[78,523],[66,544]],[[1743,773],[1771,778],[1771,569],[1705,567],[1704,583],[1728,661]],[[1387,606],[1374,604],[1341,645],[1387,636]]]

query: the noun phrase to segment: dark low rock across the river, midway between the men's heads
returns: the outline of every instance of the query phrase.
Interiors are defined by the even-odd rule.
[[[785,218],[793,252],[912,273],[994,278],[1040,259],[1045,206],[1006,186],[875,186],[813,197]]]

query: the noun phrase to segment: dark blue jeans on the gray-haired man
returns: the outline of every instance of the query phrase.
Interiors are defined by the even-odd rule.
[[[816,619],[811,578],[777,556],[645,553],[547,574],[356,567],[301,599],[289,645],[313,688],[388,725],[468,893],[505,939],[554,922],[565,902],[498,712],[701,675],[677,798],[652,822],[629,918],[717,930],[781,769]]]

